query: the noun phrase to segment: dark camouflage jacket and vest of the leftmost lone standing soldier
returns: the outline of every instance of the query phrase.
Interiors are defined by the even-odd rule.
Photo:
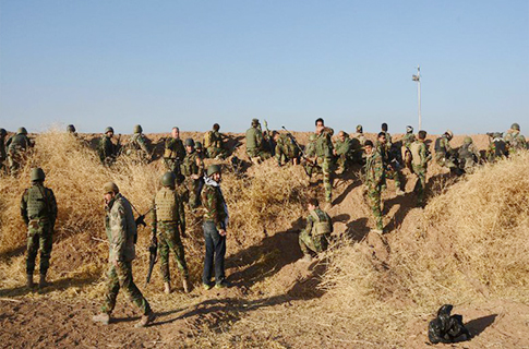
[[[33,183],[22,195],[21,215],[31,230],[38,230],[45,224],[53,226],[57,219],[57,201],[53,191],[44,186],[41,182]]]

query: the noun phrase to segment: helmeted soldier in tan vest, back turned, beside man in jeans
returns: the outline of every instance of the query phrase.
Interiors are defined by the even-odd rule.
[[[153,210],[153,238],[157,240],[158,254],[160,256],[160,269],[164,277],[166,293],[171,292],[169,275],[169,251],[175,253],[178,268],[182,273],[183,291],[190,291],[189,270],[185,264],[182,238],[185,238],[185,214],[182,198],[175,190],[176,176],[172,171],[161,177],[161,189],[154,198]]]

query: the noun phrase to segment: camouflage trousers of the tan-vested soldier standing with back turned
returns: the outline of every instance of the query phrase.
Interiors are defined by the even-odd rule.
[[[169,252],[175,253],[177,266],[184,277],[189,277],[188,265],[182,240],[177,224],[158,221],[158,253],[160,256],[160,270],[165,282],[170,281]]]

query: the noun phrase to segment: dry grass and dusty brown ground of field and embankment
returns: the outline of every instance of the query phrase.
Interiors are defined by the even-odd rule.
[[[201,137],[183,132],[182,139],[188,136]],[[304,144],[308,133],[296,133],[296,136]],[[88,142],[94,139],[93,135],[83,137]],[[155,154],[159,155],[163,135],[149,137],[157,145]],[[231,144],[244,142],[240,134],[232,139]],[[394,139],[398,140],[399,135]],[[462,139],[464,135],[456,136],[453,144],[461,144]],[[474,135],[473,140],[482,149],[488,145],[486,135]],[[242,158],[243,151],[239,146],[235,154]],[[35,157],[47,154],[43,149]],[[526,156],[520,161],[527,163],[527,159]],[[224,185],[233,227],[228,238],[227,275],[232,287],[211,291],[200,287],[203,250],[199,219],[192,216],[189,216],[191,237],[184,243],[196,288],[190,294],[180,290],[163,294],[158,268],[152,285],[145,287],[149,229],[142,229],[134,275],[158,318],[148,328],[134,329],[137,314],[122,296],[113,314],[115,323],[100,326],[91,321],[103,296],[101,268],[106,258],[105,244],[98,240],[104,239],[98,188],[106,179],[118,178],[125,195],[143,210],[148,206],[163,167],[159,161],[140,169],[128,167],[125,176],[99,167],[91,169],[92,163],[64,161],[63,166],[74,166],[88,174],[83,179],[84,185],[67,182],[67,177],[55,182],[53,174],[59,177],[61,172],[50,169],[48,184],[56,191],[62,214],[50,268],[53,284],[39,292],[29,292],[24,287],[24,231],[17,207],[13,206],[26,186],[28,170],[20,182],[0,178],[3,212],[0,215],[0,341],[4,347],[424,348],[428,347],[428,322],[440,305],[452,302],[454,312],[464,315],[476,337],[467,342],[437,347],[529,348],[527,264],[518,265],[508,256],[486,255],[491,249],[467,251],[458,245],[456,236],[465,234],[465,227],[473,229],[474,226],[458,220],[459,230],[454,228],[453,219],[460,219],[457,212],[465,210],[465,206],[450,208],[449,202],[465,204],[458,202],[459,196],[454,192],[473,190],[472,178],[456,183],[446,170],[432,164],[429,168],[431,207],[425,209],[413,206],[413,176],[405,173],[407,194],[401,197],[395,195],[393,183],[388,183],[384,193],[388,233],[383,238],[370,233],[371,215],[359,173],[336,180],[334,206],[329,209],[336,242],[329,253],[308,264],[298,261],[301,251],[297,233],[303,226],[300,218],[305,215],[298,201],[317,188],[315,181],[309,182],[301,168],[278,169],[273,160],[250,168],[249,179],[228,174]],[[527,164],[516,168],[527,169]],[[492,173],[494,169],[483,171]],[[481,174],[473,176],[479,186]],[[512,186],[501,183],[498,178],[493,186],[512,188],[512,196],[515,192],[527,195],[524,186],[527,176],[517,178]],[[77,174],[74,179],[79,180]],[[453,185],[459,186],[450,192]],[[493,189],[485,191],[495,193]],[[496,196],[491,197],[497,201]],[[68,204],[69,200],[75,204]],[[486,207],[488,203],[483,205]],[[84,212],[77,212],[81,207]],[[529,252],[527,205],[509,207],[526,215],[526,219],[519,221],[519,216],[509,216],[517,224],[507,225],[498,216],[493,224],[495,230],[505,233],[502,237],[507,251],[513,249],[508,243],[516,242],[518,248],[512,250],[513,256],[524,264]],[[440,210],[449,213],[446,217],[436,215]],[[472,212],[468,212],[471,216]],[[480,224],[483,231],[489,229],[488,221]],[[512,240],[513,231],[519,234],[519,240]],[[495,244],[496,240],[486,241],[478,233],[473,237],[477,240],[471,238],[467,242],[471,241],[472,245],[490,244],[503,251]],[[490,276],[471,267],[486,258]],[[506,262],[501,263],[498,258]],[[409,267],[410,260],[417,261],[418,269],[430,265],[431,275],[428,268],[402,269]],[[454,267],[465,270],[454,279],[441,277],[454,273]],[[407,288],[410,285],[413,287]]]

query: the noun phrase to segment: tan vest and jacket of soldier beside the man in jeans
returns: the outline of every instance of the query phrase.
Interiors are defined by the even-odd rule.
[[[185,232],[185,213],[182,200],[175,189],[163,186],[154,197],[153,231],[157,231],[158,221],[176,222]]]

